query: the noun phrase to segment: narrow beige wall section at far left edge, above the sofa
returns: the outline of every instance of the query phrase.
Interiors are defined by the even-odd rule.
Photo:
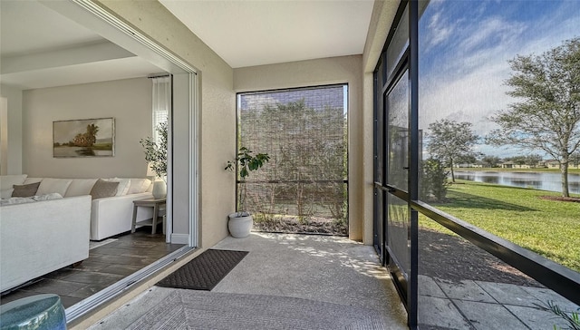
[[[5,169],[2,169],[2,174],[22,174],[22,91],[2,84],[0,85],[0,96],[6,99],[7,120],[7,131],[5,132],[7,145],[5,154],[2,155]]]

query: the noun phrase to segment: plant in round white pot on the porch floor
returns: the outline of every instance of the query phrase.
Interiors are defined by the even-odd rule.
[[[250,171],[260,169],[268,160],[270,160],[270,156],[268,156],[267,153],[258,153],[253,155],[252,152],[252,150],[249,150],[246,147],[241,147],[237,152],[236,159],[227,161],[227,165],[224,170],[233,171],[237,168],[239,171],[240,179],[244,180],[250,174]],[[254,218],[252,218],[252,215],[249,212],[243,210],[244,201],[246,198],[246,185],[243,187],[243,189],[238,189],[239,194],[237,200],[239,209],[237,212],[228,215],[229,220],[227,221],[227,228],[229,229],[229,233],[234,238],[247,237],[250,234],[252,225],[254,223]]]

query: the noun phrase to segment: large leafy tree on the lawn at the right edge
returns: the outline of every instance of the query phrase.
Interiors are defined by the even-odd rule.
[[[491,117],[493,145],[544,150],[560,163],[562,196],[569,197],[568,163],[580,148],[580,38],[567,40],[539,56],[517,56],[506,84],[517,102]]]

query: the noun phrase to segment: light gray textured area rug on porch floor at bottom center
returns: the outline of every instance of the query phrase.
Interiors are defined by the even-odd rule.
[[[128,329],[384,329],[372,310],[285,297],[176,290]]]

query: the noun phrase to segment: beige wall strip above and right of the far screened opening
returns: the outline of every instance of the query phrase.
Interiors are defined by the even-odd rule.
[[[362,56],[342,56],[234,70],[236,92],[348,83],[349,238],[364,237]],[[372,112],[371,112],[372,113]],[[372,141],[371,141],[372,142]],[[372,221],[372,217],[370,218]],[[372,243],[372,242],[371,242]],[[369,243],[369,244],[371,244]]]

